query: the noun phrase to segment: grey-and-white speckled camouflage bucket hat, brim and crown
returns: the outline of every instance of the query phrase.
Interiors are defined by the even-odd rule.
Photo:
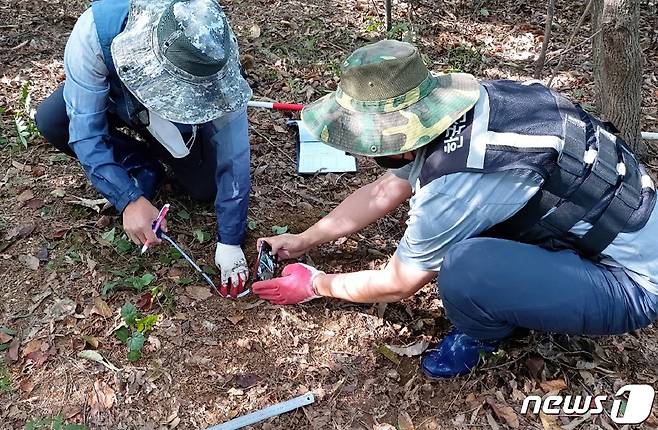
[[[131,0],[112,58],[126,88],[169,121],[212,121],[252,95],[217,0]]]

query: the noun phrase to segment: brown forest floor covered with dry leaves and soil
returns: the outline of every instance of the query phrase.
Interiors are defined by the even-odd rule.
[[[322,96],[336,88],[339,64],[349,52],[386,35],[382,2],[223,3],[260,99],[304,103]],[[642,121],[644,130],[656,130],[658,13],[655,1],[642,4]],[[81,168],[34,134],[28,119],[26,104],[33,108],[63,82],[64,46],[86,5],[0,0],[1,429],[60,423],[205,428],[307,391],[315,394],[314,405],[255,428],[617,429],[608,413],[556,418],[520,409],[531,394],[610,397],[629,383],[656,386],[653,327],[601,339],[531,334],[503,344],[469,376],[430,382],[418,372],[414,350],[450,328],[433,286],[387,307],[332,300],[278,307],[255,297],[212,296],[164,246],[140,256],[125,240],[120,217],[94,207],[91,200],[100,196]],[[543,2],[394,5],[390,36],[411,37],[432,69],[481,79],[532,77],[543,39]],[[577,47],[554,71],[583,7],[557,1],[544,82],[555,74],[557,90],[593,107],[589,20],[574,39]],[[23,121],[20,136],[16,118]],[[287,119],[250,112],[253,189],[245,249],[252,261],[258,237],[271,235],[273,227],[302,231],[381,174],[370,160],[359,159],[357,174],[298,176]],[[647,158],[654,172],[657,153],[650,148]],[[173,236],[211,271],[213,208],[174,195],[170,187],[155,201],[164,202],[173,205]],[[394,252],[405,216],[399,210],[311,252],[306,261],[328,272],[379,267]],[[142,314],[140,327],[132,329],[147,333],[141,359],[132,362],[125,338],[119,339],[125,330],[115,333],[126,303]],[[134,333],[131,345],[139,338]],[[383,347],[412,344],[411,357]],[[93,352],[85,359],[83,350]],[[100,357],[107,366],[90,360]],[[656,426],[654,406],[644,428]]]

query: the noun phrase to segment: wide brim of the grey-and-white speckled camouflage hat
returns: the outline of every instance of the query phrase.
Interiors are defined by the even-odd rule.
[[[126,28],[112,41],[117,74],[149,110],[181,124],[202,124],[244,109],[252,92],[240,74],[235,36],[226,66],[196,77],[158,55],[156,28],[171,0],[132,0]],[[230,29],[229,29],[230,31]]]

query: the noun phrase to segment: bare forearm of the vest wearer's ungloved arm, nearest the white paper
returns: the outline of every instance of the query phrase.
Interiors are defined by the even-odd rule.
[[[411,186],[388,173],[350,194],[329,215],[301,234],[311,246],[350,235],[382,218],[410,196]]]

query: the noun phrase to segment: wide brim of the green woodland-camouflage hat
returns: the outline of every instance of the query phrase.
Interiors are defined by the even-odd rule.
[[[400,110],[347,109],[334,92],[307,106],[302,121],[323,142],[351,154],[380,157],[413,151],[440,136],[480,97],[479,83],[471,75],[434,78],[432,91]]]

